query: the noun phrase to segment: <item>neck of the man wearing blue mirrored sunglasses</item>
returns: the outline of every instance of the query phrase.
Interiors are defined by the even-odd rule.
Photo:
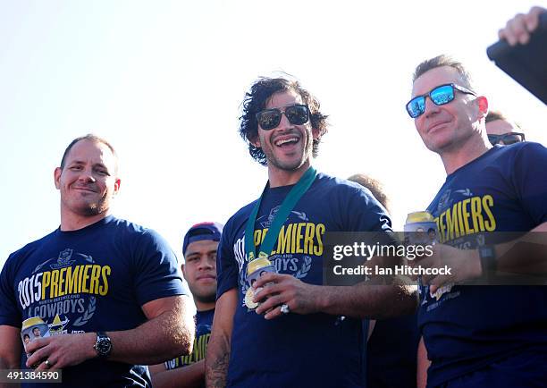
[[[460,167],[474,161],[477,157],[484,155],[492,145],[486,137],[486,131],[476,133],[462,144],[455,145],[449,149],[439,152],[444,170],[447,175],[454,173]]]

